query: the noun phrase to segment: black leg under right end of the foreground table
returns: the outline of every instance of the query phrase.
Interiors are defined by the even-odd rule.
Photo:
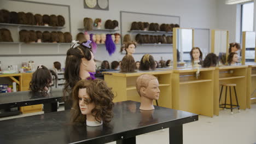
[[[169,143],[183,143],[182,125],[169,128]]]

